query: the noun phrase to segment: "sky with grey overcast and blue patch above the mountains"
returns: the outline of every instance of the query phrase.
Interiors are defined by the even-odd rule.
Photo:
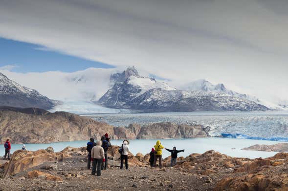
[[[287,0],[2,1],[0,70],[38,87],[41,73],[136,66],[174,86],[205,78],[287,100],[287,9]]]

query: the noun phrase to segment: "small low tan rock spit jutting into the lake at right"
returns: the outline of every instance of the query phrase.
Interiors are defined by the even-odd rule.
[[[266,151],[266,152],[288,152],[288,143],[278,143],[275,145],[253,145],[242,150]]]

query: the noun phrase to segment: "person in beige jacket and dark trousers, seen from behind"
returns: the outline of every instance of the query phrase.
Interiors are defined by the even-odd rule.
[[[95,175],[97,169],[97,176],[101,176],[102,162],[105,162],[104,149],[101,147],[102,141],[97,141],[96,146],[91,150],[92,158],[92,175]]]

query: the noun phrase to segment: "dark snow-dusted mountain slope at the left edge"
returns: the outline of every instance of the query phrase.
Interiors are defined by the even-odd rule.
[[[39,94],[36,90],[21,86],[0,73],[0,106],[51,109],[59,103]]]

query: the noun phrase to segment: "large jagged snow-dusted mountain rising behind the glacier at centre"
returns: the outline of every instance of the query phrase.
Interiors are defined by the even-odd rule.
[[[146,112],[268,110],[266,106],[226,90],[223,84],[214,86],[205,80],[191,84],[190,90],[177,90],[154,78],[139,76],[135,68],[111,78],[115,82],[113,87],[98,101],[110,108]]]

